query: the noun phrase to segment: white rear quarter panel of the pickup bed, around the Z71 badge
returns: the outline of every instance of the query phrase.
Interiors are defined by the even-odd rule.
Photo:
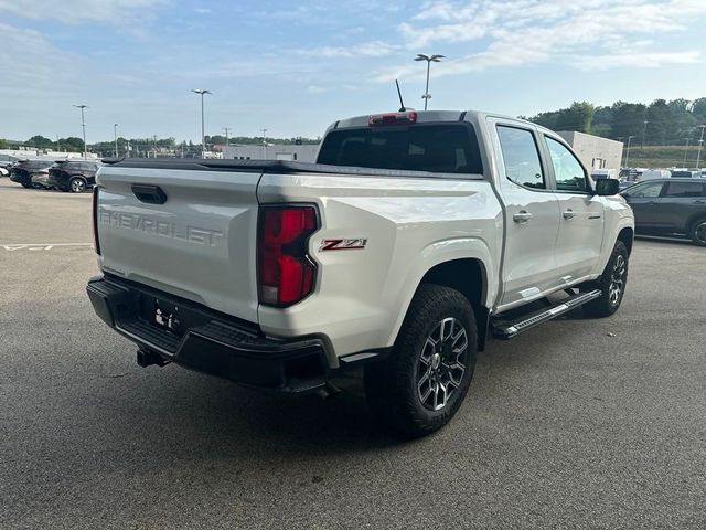
[[[319,265],[314,293],[288,309],[260,306],[260,327],[274,336],[321,335],[338,357],[392,346],[432,266],[475,258],[485,271],[499,268],[501,209],[483,180],[266,173],[258,201],[315,203],[322,225],[309,247]],[[322,251],[327,239],[366,245]],[[495,284],[489,278],[488,305]]]

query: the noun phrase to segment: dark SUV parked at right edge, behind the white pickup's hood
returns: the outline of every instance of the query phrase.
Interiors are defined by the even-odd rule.
[[[635,214],[635,232],[686,235],[706,246],[706,179],[655,179],[620,192]]]

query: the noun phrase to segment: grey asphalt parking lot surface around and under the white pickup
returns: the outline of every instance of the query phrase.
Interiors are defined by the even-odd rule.
[[[0,179],[0,528],[705,528],[706,248],[638,240],[618,315],[480,354],[402,443],[328,401],[141,369],[94,316],[90,194]]]

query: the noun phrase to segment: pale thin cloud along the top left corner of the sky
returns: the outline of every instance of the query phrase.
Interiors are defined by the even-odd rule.
[[[120,23],[164,3],[164,0],[0,0],[0,13],[66,23],[101,21]]]

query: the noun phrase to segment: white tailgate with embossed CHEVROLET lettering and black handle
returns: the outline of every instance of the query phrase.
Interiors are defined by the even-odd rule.
[[[260,174],[101,168],[103,271],[256,322]]]

